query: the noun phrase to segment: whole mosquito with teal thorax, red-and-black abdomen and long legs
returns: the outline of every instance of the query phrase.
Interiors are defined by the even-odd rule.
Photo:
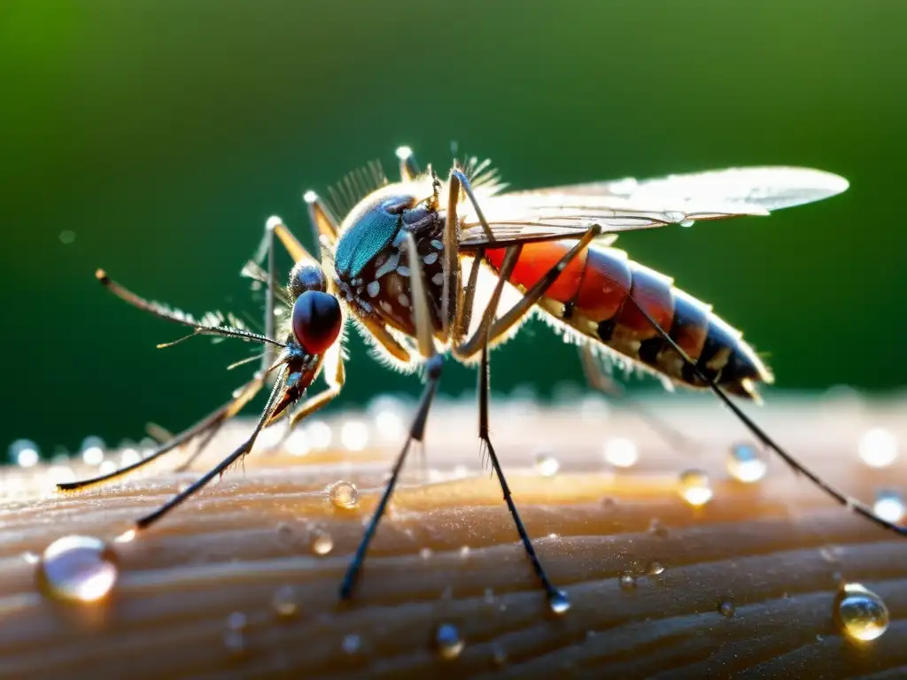
[[[389,481],[351,559],[339,596],[352,596],[366,552],[385,514],[414,442],[425,423],[445,359],[477,364],[480,448],[501,484],[523,549],[549,601],[566,597],[555,588],[532,546],[489,434],[489,355],[531,316],[540,316],[580,345],[593,386],[607,387],[600,358],[639,367],[668,384],[709,389],[736,413],[767,448],[838,503],[899,534],[867,505],[838,491],[774,442],[732,396],[754,401],[760,384],[774,378],[742,334],[711,306],[673,286],[673,280],[612,248],[623,231],[689,226],[693,222],[765,216],[827,199],[847,180],[822,170],[749,167],[670,175],[652,180],[596,181],[548,189],[511,191],[488,161],[453,161],[446,180],[431,167],[419,170],[412,151],[396,152],[400,180],[379,166],[352,173],[332,200],[307,191],[310,253],[279,218],[268,219],[260,261],[244,273],[266,286],[264,333],[224,316],[195,319],[133,294],[102,270],[104,287],[132,306],[186,325],[192,335],[218,335],[264,345],[258,372],[227,403],[132,465],[65,491],[111,481],[198,440],[200,449],[266,385],[268,401],[248,439],[187,489],[137,520],[141,531],[161,520],[247,455],[259,432],[282,417],[289,429],[336,398],[345,380],[346,325],[356,325],[386,363],[424,374],[424,390]],[[337,214],[345,217],[337,219]],[[286,287],[278,285],[277,244],[295,262]],[[482,282],[490,286],[482,285]],[[506,311],[498,314],[502,298]],[[289,310],[276,328],[276,305]],[[326,387],[312,389],[318,375]],[[191,459],[190,459],[191,460]]]

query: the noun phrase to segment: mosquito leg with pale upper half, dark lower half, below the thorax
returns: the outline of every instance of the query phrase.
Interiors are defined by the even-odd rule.
[[[394,463],[394,468],[391,471],[391,478],[387,481],[385,491],[381,494],[381,500],[378,500],[375,513],[372,515],[372,519],[366,527],[366,533],[359,542],[356,554],[349,563],[349,567],[346,569],[346,575],[344,576],[343,582],[340,584],[341,599],[349,599],[353,594],[353,588],[356,587],[356,578],[359,575],[359,570],[362,568],[363,562],[366,559],[368,547],[375,537],[375,530],[377,530],[378,524],[387,510],[387,503],[394,493],[397,480],[400,477],[400,471],[403,470],[406,454],[409,452],[410,446],[413,442],[422,442],[424,440],[425,422],[428,419],[428,412],[431,409],[434,393],[437,392],[438,383],[441,380],[442,369],[444,368],[444,357],[435,354],[434,352],[432,322],[431,317],[429,316],[429,303],[424,287],[422,260],[419,257],[419,252],[416,248],[415,239],[412,234],[407,233],[406,235],[406,248],[408,250],[410,263],[410,285],[412,286],[412,295],[410,298],[413,301],[416,340],[418,342],[419,352],[425,358],[427,382],[425,383],[422,398],[419,400],[419,407],[416,410],[413,423],[410,425],[409,435]]]

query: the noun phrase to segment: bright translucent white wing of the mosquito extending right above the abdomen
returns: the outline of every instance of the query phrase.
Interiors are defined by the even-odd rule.
[[[482,195],[487,233],[463,202],[463,248],[578,238],[599,224],[610,240],[621,231],[656,228],[813,203],[842,193],[847,180],[823,170],[788,167],[729,168],[652,180],[610,180]]]

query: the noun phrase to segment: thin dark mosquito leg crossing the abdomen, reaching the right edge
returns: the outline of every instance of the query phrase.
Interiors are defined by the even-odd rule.
[[[656,331],[658,331],[658,335],[661,335],[664,341],[668,343],[668,345],[670,345],[675,352],[678,353],[684,364],[687,364],[690,369],[697,374],[699,379],[706,383],[709,389],[711,389],[711,391],[716,394],[718,399],[720,399],[727,406],[727,408],[734,412],[740,422],[746,426],[746,429],[752,432],[756,439],[762,442],[764,446],[772,449],[775,453],[781,456],[781,459],[785,461],[785,463],[787,463],[787,465],[793,471],[795,471],[795,473],[802,474],[807,480],[813,482],[813,484],[818,487],[819,490],[823,491],[826,495],[837,501],[840,505],[843,505],[845,508],[850,508],[858,515],[862,515],[864,518],[872,521],[874,524],[877,524],[883,529],[888,529],[896,534],[900,534],[901,536],[907,536],[907,527],[899,527],[897,524],[879,517],[877,514],[875,514],[875,512],[873,512],[872,508],[863,503],[861,500],[853,498],[853,496],[848,496],[843,491],[838,491],[832,485],[828,484],[821,477],[819,477],[814,471],[806,468],[803,463],[797,461],[790,453],[782,449],[780,445],[775,443],[775,440],[769,437],[761,427],[759,427],[748,415],[746,415],[746,413],[744,413],[740,409],[739,406],[736,405],[736,403],[733,402],[733,400],[731,400],[731,398],[715,382],[715,380],[711,376],[707,375],[706,371],[703,371],[701,368],[699,368],[698,364],[693,361],[686,352],[684,352],[683,348],[678,345],[677,342],[675,342],[674,338],[672,338],[664,328],[658,325],[658,322],[656,322],[655,319],[653,319],[652,316],[649,315],[649,312],[647,312],[643,308],[643,306],[639,305],[639,303],[635,299],[633,299],[633,296],[628,296],[627,299],[639,310],[642,316],[646,317],[646,319],[649,321],[649,324],[651,324],[652,327],[655,328]]]

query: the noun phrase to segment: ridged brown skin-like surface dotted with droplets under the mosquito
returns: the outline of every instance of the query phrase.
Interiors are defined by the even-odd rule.
[[[876,489],[907,479],[900,459],[875,470],[856,455],[869,427],[905,441],[902,404],[771,403],[750,411],[849,493],[872,503]],[[24,553],[40,554],[67,534],[112,539],[194,475],[159,466],[141,479],[60,495],[40,491],[47,485],[42,468],[7,471],[0,676],[907,672],[907,539],[833,505],[774,457],[761,482],[729,479],[728,446],[748,440],[711,401],[649,406],[689,436],[685,452],[661,442],[633,413],[609,416],[598,404],[492,408],[493,439],[522,518],[552,580],[571,597],[562,616],[547,606],[500,488],[480,467],[472,405],[442,403],[430,416],[427,471],[419,471],[414,456],[346,604],[338,603],[336,588],[399,435],[373,434],[358,452],[335,447],[297,457],[257,448],[245,473],[230,471],[160,525],[112,544],[120,580],[93,605],[44,597],[35,586],[37,567]],[[327,422],[339,432],[342,423],[365,418],[342,413]],[[247,427],[237,423],[219,435],[196,468],[228,451]],[[634,467],[616,471],[602,460],[602,441],[612,436],[638,442]],[[539,452],[560,462],[554,476],[539,473]],[[704,507],[678,494],[678,474],[688,468],[712,478],[715,496]],[[359,489],[352,510],[328,500],[326,486],[340,479]],[[328,536],[331,549],[317,554]],[[653,562],[664,570],[654,573]],[[635,578],[621,585],[621,575]],[[835,616],[842,582],[862,583],[883,598],[891,615],[883,636],[861,643],[843,635]],[[295,603],[296,611],[281,613],[276,601]],[[721,603],[726,615],[732,603],[733,615],[722,615]],[[241,617],[229,618],[236,612],[244,627]],[[444,658],[434,641],[443,624],[463,638],[455,658]]]

